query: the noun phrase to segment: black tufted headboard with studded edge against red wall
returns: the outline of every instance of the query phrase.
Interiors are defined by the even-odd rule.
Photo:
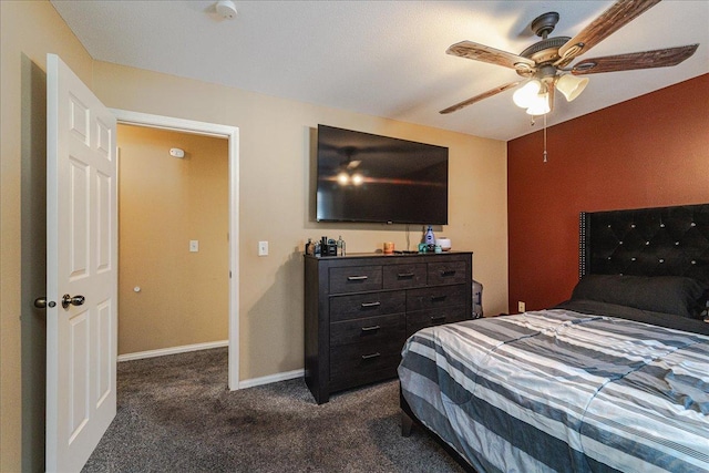
[[[709,204],[582,212],[578,270],[709,282]]]

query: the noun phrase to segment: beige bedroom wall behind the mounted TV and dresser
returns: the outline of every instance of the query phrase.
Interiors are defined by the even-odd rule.
[[[405,247],[404,226],[310,219],[318,123],[449,146],[450,225],[439,234],[475,253],[486,312],[507,310],[504,142],[100,61],[94,92],[110,107],[239,127],[242,380],[302,368],[300,251],[307,238],[342,235],[349,251],[373,251],[384,240]],[[419,237],[412,228],[411,240]],[[259,240],[269,241],[269,256],[257,256]]]

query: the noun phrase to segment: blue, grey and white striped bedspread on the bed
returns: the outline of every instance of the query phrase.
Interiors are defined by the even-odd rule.
[[[709,337],[564,309],[432,327],[399,366],[479,472],[709,471]]]

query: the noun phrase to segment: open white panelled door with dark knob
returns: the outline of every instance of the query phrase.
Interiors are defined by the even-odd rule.
[[[111,112],[48,54],[48,471],[80,471],[116,411],[115,130]]]

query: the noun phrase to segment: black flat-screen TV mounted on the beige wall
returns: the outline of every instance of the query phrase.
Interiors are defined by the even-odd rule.
[[[318,125],[318,222],[448,224],[448,147]]]

